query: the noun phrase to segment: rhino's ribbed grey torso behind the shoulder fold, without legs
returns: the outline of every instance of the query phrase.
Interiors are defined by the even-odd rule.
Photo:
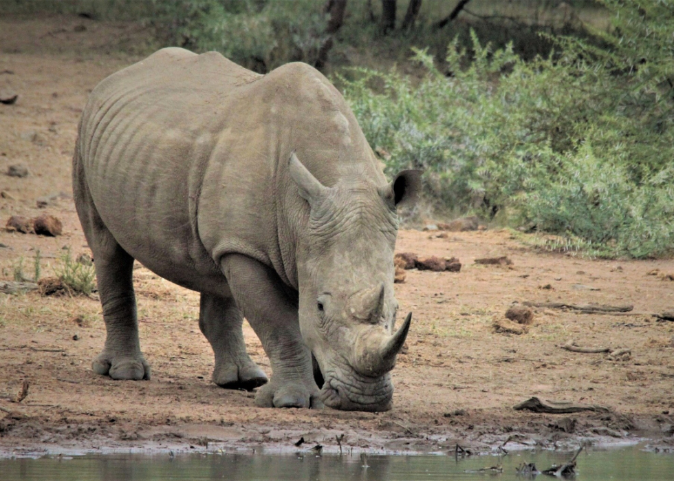
[[[135,259],[176,284],[221,289],[199,240],[208,159],[237,87],[259,78],[215,52],[160,50],[91,93],[78,149],[96,210]]]

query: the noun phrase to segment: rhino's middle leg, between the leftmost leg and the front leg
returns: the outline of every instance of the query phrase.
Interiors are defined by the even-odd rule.
[[[267,382],[267,376],[255,364],[243,341],[243,314],[232,297],[202,293],[199,328],[215,353],[213,382],[227,389],[254,389]]]

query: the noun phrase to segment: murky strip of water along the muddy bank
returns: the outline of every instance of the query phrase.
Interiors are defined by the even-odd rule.
[[[569,453],[510,453],[508,456],[360,456],[313,453],[101,455],[73,458],[0,459],[3,481],[166,481],[166,480],[518,480],[515,468],[534,462],[540,470],[563,464]],[[367,467],[365,466],[367,464]],[[501,464],[503,473],[486,475],[466,471]],[[578,481],[671,481],[674,455],[648,453],[636,448],[581,453],[576,467]],[[539,480],[552,480],[539,475]]]

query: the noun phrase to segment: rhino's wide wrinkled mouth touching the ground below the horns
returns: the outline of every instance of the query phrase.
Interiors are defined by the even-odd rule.
[[[343,411],[388,411],[393,406],[393,384],[388,373],[372,378],[352,368],[348,372],[329,370],[319,398],[326,406]]]

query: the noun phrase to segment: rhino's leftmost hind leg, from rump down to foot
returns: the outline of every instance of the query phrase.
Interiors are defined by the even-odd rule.
[[[74,164],[75,205],[89,248],[94,253],[98,294],[105,321],[105,347],[94,359],[96,374],[113,379],[150,378],[150,366],[140,352],[138,319],[133,294],[133,257],[103,224],[78,162]]]

